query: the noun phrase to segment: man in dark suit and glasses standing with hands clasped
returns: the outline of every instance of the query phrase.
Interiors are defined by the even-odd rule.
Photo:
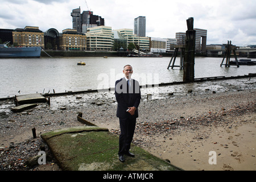
[[[121,134],[119,135],[119,160],[125,162],[123,155],[134,157],[130,146],[133,140],[138,107],[141,102],[141,90],[139,82],[131,79],[133,67],[123,67],[125,77],[115,82],[115,98],[117,99],[117,117],[119,118]]]

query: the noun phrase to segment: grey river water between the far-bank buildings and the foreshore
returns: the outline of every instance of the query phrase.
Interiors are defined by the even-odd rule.
[[[141,85],[183,80],[179,68],[167,69],[171,57],[55,57],[0,59],[0,98],[30,93],[56,93],[113,88],[123,77],[123,66],[133,66],[133,78]],[[84,61],[86,65],[77,65]],[[243,76],[256,73],[256,66],[220,67],[222,58],[196,57],[195,78]],[[179,57],[176,65],[179,65]]]

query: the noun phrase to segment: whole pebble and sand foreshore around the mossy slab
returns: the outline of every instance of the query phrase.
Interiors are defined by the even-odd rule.
[[[185,85],[180,90],[165,86],[157,96],[152,92],[151,99],[143,92],[133,143],[188,171],[255,171],[256,80],[237,82],[202,83],[192,89]],[[221,88],[214,88],[216,83]],[[51,97],[51,105],[39,104],[21,113],[12,113],[13,106],[13,100],[1,101],[2,171],[61,170],[40,134],[82,126],[79,112],[119,135],[113,92]],[[46,165],[31,162],[40,150],[49,156]],[[216,152],[217,164],[209,164],[210,151]]]

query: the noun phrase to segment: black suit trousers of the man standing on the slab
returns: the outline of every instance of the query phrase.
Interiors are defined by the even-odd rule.
[[[119,135],[119,152],[123,155],[130,150],[131,141],[133,140],[136,118],[119,118],[121,134]]]

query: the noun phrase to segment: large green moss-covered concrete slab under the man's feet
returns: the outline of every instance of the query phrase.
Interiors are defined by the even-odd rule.
[[[68,171],[177,171],[172,164],[131,145],[135,158],[118,159],[118,136],[108,129],[82,126],[42,134],[57,163]]]

